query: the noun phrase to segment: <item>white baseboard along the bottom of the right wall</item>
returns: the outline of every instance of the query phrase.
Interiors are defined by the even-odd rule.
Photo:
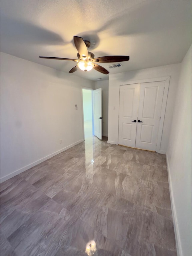
[[[181,256],[182,255],[182,247],[181,247],[180,236],[179,236],[179,228],[178,228],[178,224],[177,224],[177,214],[176,214],[176,209],[175,209],[175,203],[174,203],[174,197],[173,197],[173,187],[172,187],[169,160],[168,160],[167,154],[166,154],[166,161],[167,161],[169,191],[170,191],[170,198],[171,198],[171,211],[172,211],[172,215],[173,215],[173,226],[174,226],[175,239],[176,239],[177,255]]]

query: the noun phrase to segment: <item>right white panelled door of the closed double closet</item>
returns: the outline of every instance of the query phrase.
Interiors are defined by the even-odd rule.
[[[156,151],[164,81],[140,84],[135,147]]]

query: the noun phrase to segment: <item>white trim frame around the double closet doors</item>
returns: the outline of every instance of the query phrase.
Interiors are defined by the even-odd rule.
[[[127,81],[125,84],[120,84],[120,86],[129,85],[129,84],[135,84],[135,83],[150,83],[150,82],[160,82],[164,81],[165,89],[163,94],[163,101],[161,106],[161,120],[159,122],[159,130],[158,130],[158,138],[157,138],[157,146],[156,151],[157,153],[165,154],[164,151],[160,150],[161,147],[161,138],[163,133],[163,125],[164,125],[164,118],[165,118],[165,110],[167,105],[167,97],[168,97],[168,91],[169,91],[169,83],[170,83],[170,76],[169,77],[156,77],[156,78],[146,78],[146,79],[138,79],[133,81]],[[119,97],[120,97],[120,86],[119,86]],[[120,98],[119,98],[119,104],[120,104]],[[118,119],[118,134],[119,134],[119,119]],[[118,136],[118,144],[119,144],[119,136]]]

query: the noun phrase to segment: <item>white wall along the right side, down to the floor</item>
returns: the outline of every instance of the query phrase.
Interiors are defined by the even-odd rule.
[[[192,255],[191,214],[191,71],[192,46],[181,65],[167,165],[179,255]]]

